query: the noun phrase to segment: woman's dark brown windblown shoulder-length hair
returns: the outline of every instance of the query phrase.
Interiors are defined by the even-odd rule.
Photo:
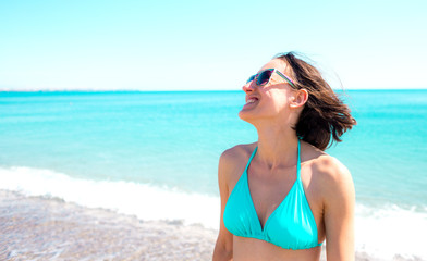
[[[274,59],[284,61],[294,83],[294,89],[306,89],[308,100],[293,129],[304,141],[325,150],[329,142],[341,142],[340,137],[356,125],[350,108],[337,96],[320,72],[295,57],[294,52],[279,53]],[[331,142],[332,138],[332,142]]]

